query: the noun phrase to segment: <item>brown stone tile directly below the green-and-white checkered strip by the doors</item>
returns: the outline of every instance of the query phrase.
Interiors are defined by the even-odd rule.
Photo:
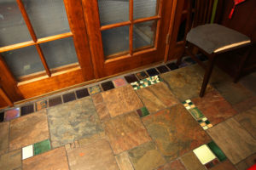
[[[177,99],[164,82],[159,82],[148,88],[138,89],[136,92],[140,99],[143,100],[144,105],[146,105],[150,113],[178,103]]]

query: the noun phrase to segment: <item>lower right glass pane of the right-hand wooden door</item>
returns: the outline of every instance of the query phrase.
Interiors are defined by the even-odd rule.
[[[137,23],[133,26],[133,49],[154,47],[157,21]]]

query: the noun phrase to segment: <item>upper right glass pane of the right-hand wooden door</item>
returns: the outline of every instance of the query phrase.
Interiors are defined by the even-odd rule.
[[[158,13],[158,0],[134,0],[133,18],[141,19],[154,16]]]

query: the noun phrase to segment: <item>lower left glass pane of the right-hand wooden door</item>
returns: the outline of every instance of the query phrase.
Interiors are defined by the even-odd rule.
[[[121,26],[102,31],[104,55],[129,51],[129,26]]]

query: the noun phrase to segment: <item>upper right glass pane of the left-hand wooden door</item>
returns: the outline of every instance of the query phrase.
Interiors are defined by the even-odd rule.
[[[69,32],[63,0],[23,0],[38,38]]]

